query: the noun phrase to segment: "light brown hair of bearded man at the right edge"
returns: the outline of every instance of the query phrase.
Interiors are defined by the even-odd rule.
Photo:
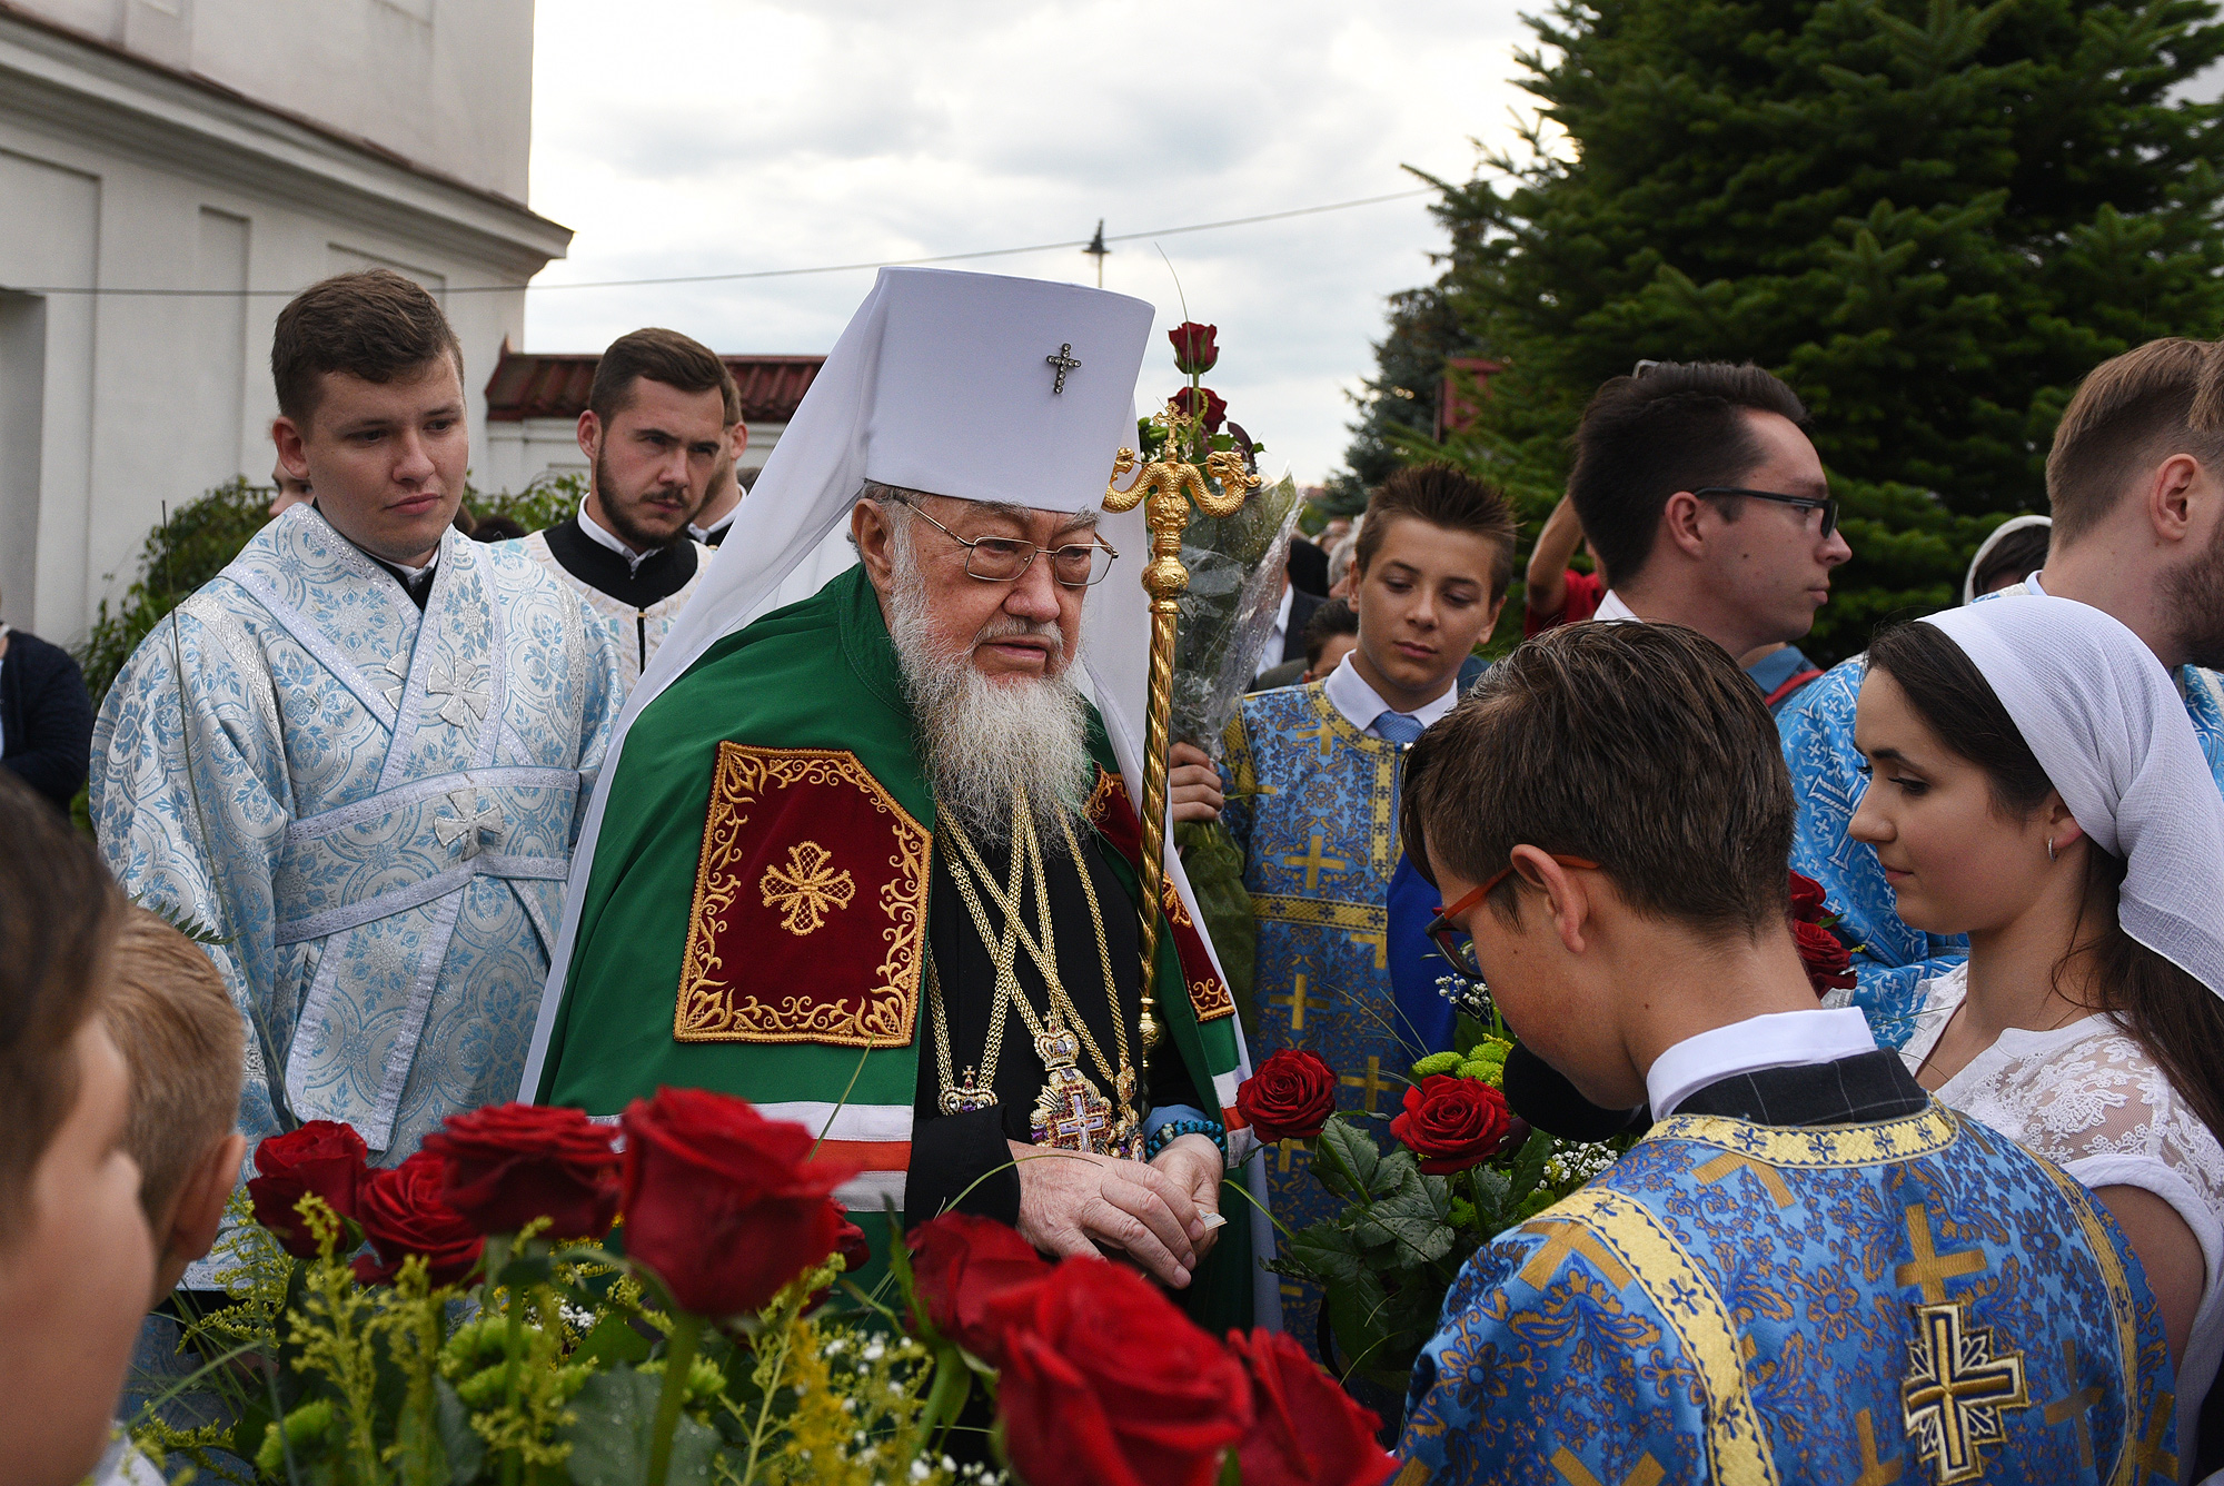
[[[2093,367],[2046,454],[2053,541],[2097,527],[2135,474],[2173,454],[2224,474],[2224,345],[2215,340],[2148,340]]]

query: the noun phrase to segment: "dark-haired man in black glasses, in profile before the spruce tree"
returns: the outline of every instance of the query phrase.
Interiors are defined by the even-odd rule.
[[[1795,641],[1853,556],[1806,423],[1759,367],[1639,363],[1583,409],[1568,481],[1615,581],[1595,618],[1697,630],[1773,710],[1821,676]]]

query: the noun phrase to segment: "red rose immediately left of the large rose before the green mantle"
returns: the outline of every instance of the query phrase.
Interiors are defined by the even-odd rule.
[[[552,1239],[600,1239],[618,1217],[614,1135],[578,1110],[496,1103],[449,1114],[425,1150],[443,1161],[447,1206],[480,1232],[547,1217]]]

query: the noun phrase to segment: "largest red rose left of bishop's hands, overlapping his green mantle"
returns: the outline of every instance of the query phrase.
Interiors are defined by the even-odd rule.
[[[834,1252],[827,1201],[856,1168],[812,1161],[812,1132],[765,1119],[747,1099],[661,1088],[625,1110],[625,1252],[681,1310],[763,1310],[781,1286]]]

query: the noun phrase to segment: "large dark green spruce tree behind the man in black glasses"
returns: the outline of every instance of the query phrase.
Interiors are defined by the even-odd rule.
[[[1530,24],[1528,158],[1439,182],[1439,291],[1508,363],[1448,452],[1537,512],[1608,376],[1770,367],[1855,549],[1817,658],[1953,603],[1982,534],[2046,509],[2086,371],[2220,329],[2224,107],[2173,100],[2224,53],[2211,0],[1561,0]]]

